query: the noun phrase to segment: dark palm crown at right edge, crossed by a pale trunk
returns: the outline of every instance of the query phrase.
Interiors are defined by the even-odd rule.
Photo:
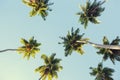
[[[120,39],[119,37],[116,37],[111,43],[107,39],[107,37],[104,36],[103,38],[103,44],[104,45],[119,45]],[[106,61],[108,58],[115,64],[115,60],[120,61],[120,50],[114,50],[114,49],[105,49],[105,48],[98,48],[99,51],[98,54],[103,55],[103,60]]]

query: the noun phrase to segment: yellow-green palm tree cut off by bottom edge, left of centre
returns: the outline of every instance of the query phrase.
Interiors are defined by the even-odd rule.
[[[54,53],[50,57],[45,54],[41,56],[45,64],[35,69],[35,71],[39,72],[41,75],[39,80],[52,80],[52,78],[58,78],[57,72],[63,67],[60,65],[61,59],[55,58],[55,55]]]

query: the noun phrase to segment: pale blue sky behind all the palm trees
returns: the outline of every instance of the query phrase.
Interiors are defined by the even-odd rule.
[[[75,15],[80,11],[79,4],[84,4],[86,0],[51,2],[54,2],[51,6],[53,11],[49,12],[47,20],[43,21],[40,16],[29,17],[31,8],[21,0],[0,0],[0,50],[18,48],[21,46],[21,38],[29,39],[32,36],[42,43],[40,53],[29,61],[17,52],[0,53],[0,80],[38,80],[39,73],[35,73],[34,69],[43,64],[40,59],[43,53],[56,53],[56,57],[62,59],[61,65],[64,68],[58,73],[57,80],[94,79],[89,75],[89,67],[96,67],[102,56],[97,55],[97,50],[91,45],[86,45],[84,55],[73,52],[71,56],[65,57],[63,45],[58,44],[62,41],[59,36],[65,36],[67,31],[74,27],[79,28],[92,42],[102,43],[103,36],[107,36],[109,40],[115,39],[116,36],[120,36],[120,0],[108,0],[103,5],[105,11],[99,17],[101,24],[89,23],[86,30],[78,22],[79,16]],[[114,68],[114,80],[120,79],[119,62],[116,61],[116,65],[113,65],[107,60],[104,66]]]

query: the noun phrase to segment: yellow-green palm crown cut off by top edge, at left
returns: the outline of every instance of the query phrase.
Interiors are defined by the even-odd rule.
[[[48,11],[52,11],[49,6],[53,5],[53,3],[49,3],[49,0],[23,0],[23,3],[32,7],[32,11],[30,11],[31,17],[38,14],[46,20]]]

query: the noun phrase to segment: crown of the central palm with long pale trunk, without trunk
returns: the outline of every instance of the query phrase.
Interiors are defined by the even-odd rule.
[[[80,35],[79,32],[79,28],[77,28],[75,31],[72,28],[71,33],[68,31],[66,37],[60,37],[63,40],[63,42],[60,44],[63,44],[63,47],[65,47],[65,56],[71,55],[73,51],[77,51],[80,54],[84,53],[82,46],[85,43],[80,43],[78,41],[84,40],[87,42],[88,39],[83,39],[82,37],[84,36],[84,33]]]

